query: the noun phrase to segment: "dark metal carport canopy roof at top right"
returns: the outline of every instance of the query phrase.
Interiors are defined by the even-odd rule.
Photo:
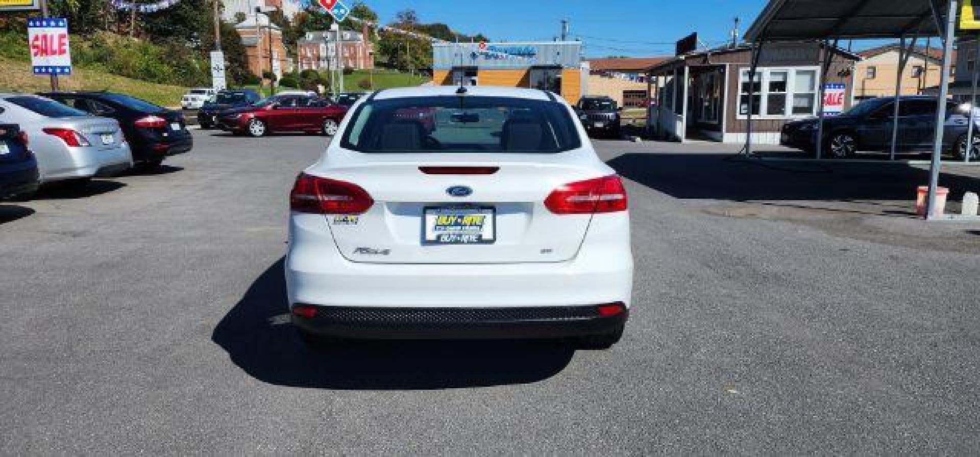
[[[745,34],[746,41],[937,36],[935,0],[770,0]],[[945,1],[935,1],[946,17]]]

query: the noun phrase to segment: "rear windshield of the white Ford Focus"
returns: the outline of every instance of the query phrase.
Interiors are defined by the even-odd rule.
[[[372,100],[341,146],[362,153],[560,153],[581,146],[563,105],[504,97]]]

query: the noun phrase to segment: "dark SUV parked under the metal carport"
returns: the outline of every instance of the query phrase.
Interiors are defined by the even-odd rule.
[[[936,133],[936,97],[907,96],[899,102],[899,136],[896,151],[928,152],[932,150]],[[851,110],[823,119],[823,155],[832,159],[854,157],[858,151],[885,152],[892,147],[892,125],[895,115],[894,98],[865,100]],[[943,133],[943,151],[952,152],[957,159],[965,156],[968,110],[953,102],[947,103]],[[783,146],[815,152],[817,119],[809,118],[783,125],[779,143]],[[980,135],[974,125],[975,135]],[[970,159],[977,158],[980,145],[974,143]]]

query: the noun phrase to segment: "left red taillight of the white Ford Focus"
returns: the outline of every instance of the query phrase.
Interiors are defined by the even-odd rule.
[[[374,200],[361,186],[336,179],[302,173],[289,194],[289,206],[294,211],[315,214],[361,214],[374,205]]]

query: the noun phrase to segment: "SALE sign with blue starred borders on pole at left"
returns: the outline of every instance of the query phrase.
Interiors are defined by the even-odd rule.
[[[34,74],[72,74],[68,21],[40,18],[27,21],[27,43]]]

